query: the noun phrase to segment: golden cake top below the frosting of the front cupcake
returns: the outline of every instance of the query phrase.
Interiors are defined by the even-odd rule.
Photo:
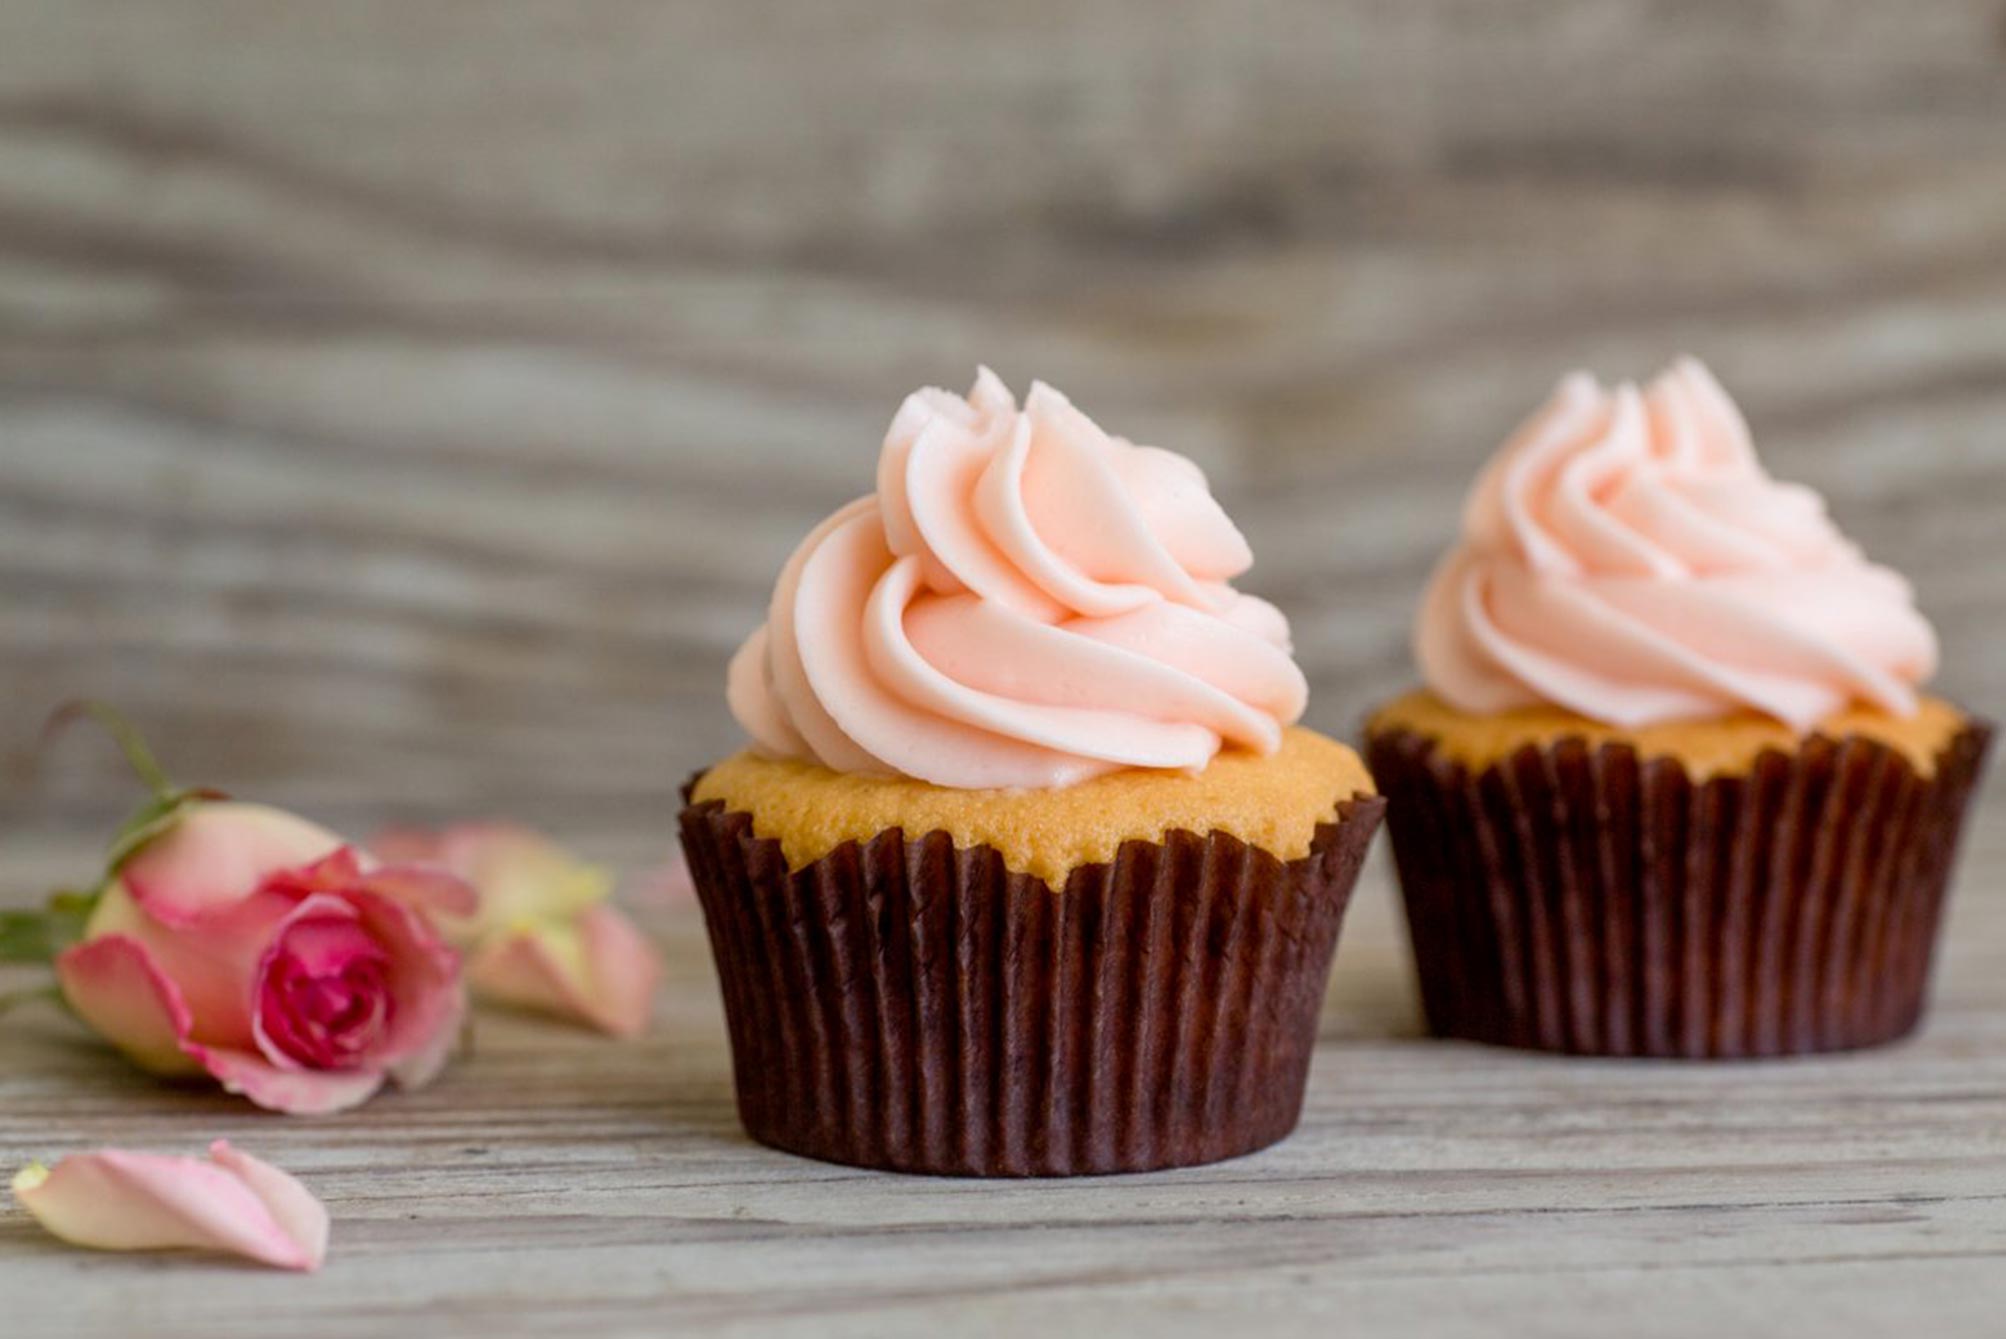
[[[995,847],[1009,869],[1063,887],[1075,867],[1113,861],[1123,841],[1161,841],[1176,829],[1224,831],[1276,859],[1302,859],[1340,801],[1372,793],[1352,749],[1296,727],[1270,757],[1228,749],[1196,775],[1125,769],[1049,791],[957,791],[746,751],[706,771],[692,801],[750,813],[752,833],[778,839],[790,869],[903,827]]]

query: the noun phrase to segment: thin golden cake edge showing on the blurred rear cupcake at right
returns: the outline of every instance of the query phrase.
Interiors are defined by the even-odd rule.
[[[1966,725],[1962,711],[1950,703],[1926,697],[1916,715],[1896,717],[1872,707],[1850,707],[1825,717],[1811,731],[1827,739],[1858,735],[1902,753],[1920,775],[1936,771],[1936,757]],[[1719,773],[1745,773],[1765,749],[1795,753],[1803,735],[1753,713],[1715,717],[1709,721],[1667,721],[1639,729],[1621,729],[1561,707],[1521,707],[1492,715],[1472,715],[1450,707],[1434,693],[1420,689],[1386,703],[1366,721],[1368,735],[1412,731],[1434,741],[1434,751],[1482,771],[1527,745],[1547,747],[1559,739],[1581,737],[1591,747],[1605,743],[1631,745],[1639,757],[1677,759],[1695,779]]]

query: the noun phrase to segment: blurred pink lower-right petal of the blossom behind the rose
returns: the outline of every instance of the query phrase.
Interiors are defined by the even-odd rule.
[[[632,1038],[648,1028],[662,960],[634,921],[598,905],[570,925],[506,935],[475,956],[467,978],[487,998]]]

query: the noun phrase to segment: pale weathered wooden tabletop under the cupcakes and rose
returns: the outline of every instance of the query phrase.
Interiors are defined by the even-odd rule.
[[[2006,813],[1900,1046],[1595,1062],[1418,1036],[1374,861],[1302,1126],[1216,1166],[953,1180],[738,1130],[708,950],[664,907],[652,1036],[485,1016],[435,1086],[329,1120],[146,1082],[56,1014],[0,1032],[0,1162],[207,1138],[335,1217],[315,1277],[70,1251],[0,1215],[4,1333],[1996,1335],[2006,1315]]]

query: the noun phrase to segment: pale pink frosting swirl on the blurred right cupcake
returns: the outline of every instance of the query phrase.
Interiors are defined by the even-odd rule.
[[[1643,391],[1561,381],[1470,492],[1414,648],[1464,711],[1555,703],[1619,727],[1910,715],[1936,668],[1908,582],[1763,472],[1693,359]]]

